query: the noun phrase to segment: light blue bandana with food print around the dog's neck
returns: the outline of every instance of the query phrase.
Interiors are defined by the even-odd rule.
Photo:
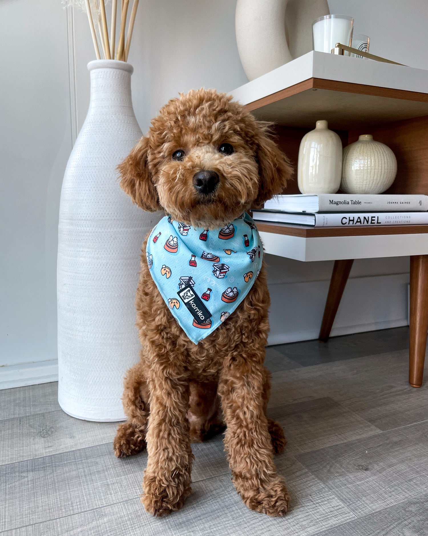
[[[146,255],[165,303],[197,344],[248,294],[263,247],[246,212],[221,229],[193,228],[165,216],[150,233]]]

